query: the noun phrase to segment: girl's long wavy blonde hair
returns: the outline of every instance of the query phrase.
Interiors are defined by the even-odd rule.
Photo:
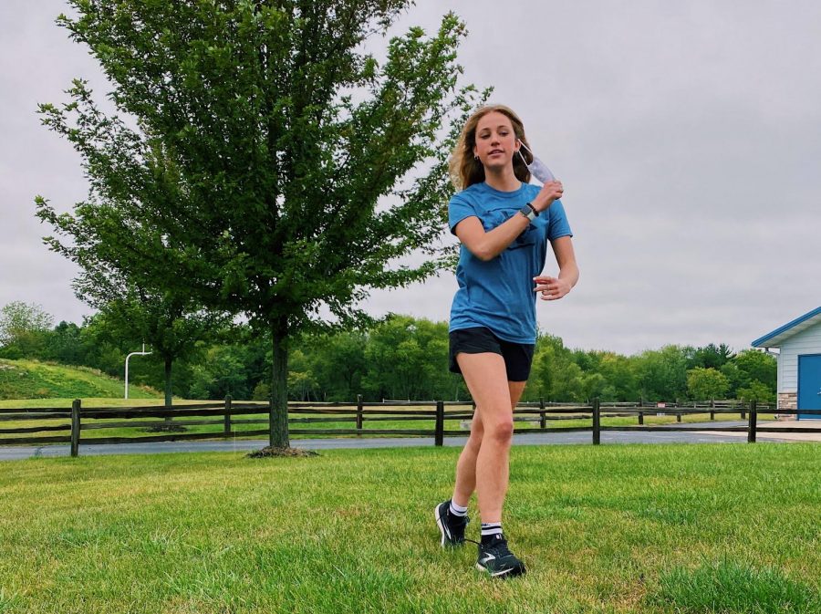
[[[525,124],[522,123],[522,120],[514,113],[513,109],[504,105],[485,105],[476,109],[473,115],[464,123],[462,134],[459,135],[456,147],[451,152],[451,160],[448,162],[451,182],[457,190],[464,190],[472,186],[473,183],[484,181],[484,165],[473,157],[473,146],[476,144],[476,126],[479,124],[479,120],[494,111],[507,116],[513,126],[516,139],[522,140],[527,149],[530,149],[530,143],[527,142],[525,137]],[[527,164],[533,161],[533,156],[524,148],[521,151],[525,156],[526,164],[519,154],[514,154],[514,174],[520,182],[527,183],[530,182],[530,171],[527,170]]]

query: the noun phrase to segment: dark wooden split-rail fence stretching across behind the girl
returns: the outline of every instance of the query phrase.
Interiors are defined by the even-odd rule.
[[[402,409],[403,407],[408,409]],[[422,409],[410,409],[422,408]],[[430,408],[430,409],[427,409]],[[447,409],[446,409],[447,408]],[[757,426],[761,412],[772,413],[768,406],[757,405],[755,401],[743,404],[735,401],[709,401],[695,403],[607,403],[594,400],[590,404],[523,402],[514,411],[515,433],[525,432],[591,432],[592,442],[601,442],[604,431],[709,431],[746,432],[747,441],[755,442],[759,432],[817,432],[816,429],[801,427],[762,428]],[[778,410],[779,414],[797,411]],[[288,404],[290,415],[289,432],[293,435],[337,435],[337,436],[404,436],[432,437],[434,445],[442,445],[444,437],[465,436],[467,423],[473,416],[473,405],[462,401],[387,401],[364,402],[361,397],[355,403],[311,403],[292,402]],[[745,426],[689,426],[681,423],[681,417],[688,414],[710,414],[714,421],[716,414],[741,414]],[[802,410],[802,413],[821,415],[821,411]],[[265,417],[259,416],[266,414]],[[677,424],[645,424],[645,416],[675,415]],[[248,416],[251,416],[250,418]],[[602,425],[602,418],[633,417],[638,424]],[[168,421],[172,419],[172,421]],[[589,426],[550,426],[548,422],[560,423],[567,420],[587,420]],[[73,401],[70,408],[18,408],[0,409],[0,445],[69,443],[70,453],[77,456],[80,442],[106,444],[127,442],[171,442],[253,437],[268,434],[270,407],[264,402],[238,402],[230,397],[219,402],[176,405],[168,407],[82,407],[81,401]],[[43,423],[47,421],[48,423]],[[57,424],[54,421],[59,421]],[[379,421],[431,421],[432,428],[426,429],[379,429],[365,428],[365,422]],[[446,423],[460,421],[462,428],[447,429]],[[10,428],[4,423],[17,422]],[[19,426],[19,422],[27,424]],[[39,423],[38,423],[39,422]],[[352,422],[354,428],[306,428],[310,424],[328,422]],[[265,425],[265,428],[245,430],[246,425]],[[82,438],[82,432],[99,429],[140,429],[162,430],[172,425],[218,426],[207,432],[158,432],[150,435],[103,436]],[[242,430],[237,426],[243,425]],[[44,433],[68,432],[52,435]],[[4,438],[5,436],[5,438]]]

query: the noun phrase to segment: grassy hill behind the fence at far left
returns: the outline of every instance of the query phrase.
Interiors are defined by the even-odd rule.
[[[36,360],[0,359],[0,400],[4,399],[83,399],[122,397],[123,381],[97,369],[68,367]],[[157,390],[130,386],[134,399],[154,399]]]

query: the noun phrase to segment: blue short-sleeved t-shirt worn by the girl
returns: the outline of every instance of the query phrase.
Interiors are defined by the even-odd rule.
[[[456,224],[471,215],[481,220],[485,232],[491,231],[533,201],[540,190],[538,185],[523,183],[514,192],[500,192],[487,183],[473,183],[451,198],[451,232],[455,234]],[[487,327],[505,341],[535,343],[533,278],[545,267],[547,242],[572,235],[565,208],[555,201],[492,260],[484,262],[462,245],[449,330]]]

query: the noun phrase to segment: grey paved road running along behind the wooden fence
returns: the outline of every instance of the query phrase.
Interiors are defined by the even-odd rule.
[[[769,425],[774,422],[759,422],[759,426]],[[683,424],[682,424],[683,425]],[[716,422],[697,422],[687,424],[693,428],[714,427]],[[726,421],[721,422],[721,426],[743,426],[746,421]],[[785,433],[786,435],[787,433]],[[821,432],[819,432],[821,434]],[[758,433],[759,442],[784,442],[785,437],[777,433]],[[464,437],[446,437],[444,444],[448,446],[461,446],[464,444]],[[652,432],[618,432],[606,431],[601,433],[602,444],[608,443],[738,443],[746,441],[746,433],[734,432],[709,433],[709,432],[681,432],[681,431],[652,431]],[[514,435],[514,445],[555,445],[566,443],[587,443],[592,442],[590,432],[546,432],[546,433],[523,433]],[[267,441],[255,439],[237,439],[218,442],[150,442],[150,443],[118,443],[118,444],[93,444],[83,443],[80,445],[79,453],[82,456],[99,456],[102,454],[153,454],[153,453],[175,453],[175,452],[250,452],[265,446]],[[338,438],[338,439],[299,439],[293,440],[292,445],[306,450],[330,450],[330,449],[353,449],[353,448],[404,448],[412,446],[432,446],[431,437],[407,437],[407,438]],[[45,445],[45,446],[13,446],[0,448],[0,461],[18,460],[32,458],[34,456],[54,457],[68,456],[68,445]]]

